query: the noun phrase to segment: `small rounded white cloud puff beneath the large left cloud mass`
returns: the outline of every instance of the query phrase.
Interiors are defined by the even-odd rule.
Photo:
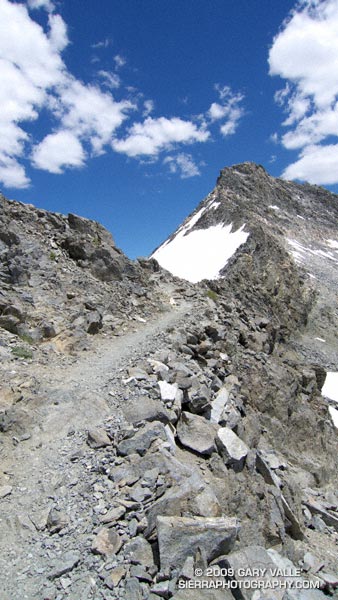
[[[82,167],[85,160],[83,147],[70,131],[47,135],[33,150],[33,164],[50,173],[62,173],[66,167]]]

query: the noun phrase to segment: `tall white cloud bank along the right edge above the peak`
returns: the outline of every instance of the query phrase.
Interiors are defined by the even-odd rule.
[[[337,168],[328,173],[337,165],[336,145],[328,138],[338,134],[338,1],[300,2],[273,41],[269,65],[271,75],[287,81],[275,96],[289,128],[281,142],[300,151],[285,176],[338,183]]]

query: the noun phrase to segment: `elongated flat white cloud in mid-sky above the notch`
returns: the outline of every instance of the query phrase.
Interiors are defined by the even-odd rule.
[[[170,150],[177,143],[205,142],[209,132],[198,128],[192,121],[178,117],[167,119],[147,117],[143,123],[134,123],[125,139],[113,140],[116,152],[128,156],[157,156],[162,150]]]

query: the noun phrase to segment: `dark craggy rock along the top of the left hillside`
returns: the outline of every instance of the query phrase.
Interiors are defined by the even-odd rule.
[[[62,249],[65,257],[101,281],[139,275],[136,265],[116,248],[111,234],[99,223],[9,202],[3,196],[0,203],[3,280],[27,282],[37,270],[50,270]]]

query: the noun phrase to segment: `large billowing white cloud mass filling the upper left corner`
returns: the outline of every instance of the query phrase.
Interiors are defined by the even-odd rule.
[[[28,8],[52,11],[54,5],[29,0]],[[29,155],[35,167],[52,173],[82,166],[86,154],[103,151],[134,108],[128,100],[117,102],[108,91],[75,79],[61,56],[68,43],[67,26],[60,15],[50,12],[45,31],[31,18],[27,6],[0,0],[0,176],[6,186],[29,185],[21,164]],[[100,75],[108,88],[117,86],[117,76]],[[31,151],[25,125],[37,120],[42,109],[49,111],[57,125]],[[83,144],[90,152],[85,152]]]

